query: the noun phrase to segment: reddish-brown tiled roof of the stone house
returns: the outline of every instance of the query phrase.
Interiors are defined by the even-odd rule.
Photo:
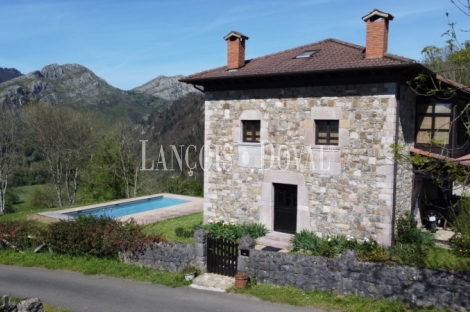
[[[295,57],[307,50],[320,50],[312,57]],[[411,65],[412,59],[385,54],[382,58],[365,58],[365,47],[336,39],[326,39],[290,50],[248,60],[245,66],[228,71],[227,66],[186,76],[181,81],[230,78],[243,76],[262,76],[276,74],[308,73],[348,69],[366,69]]]

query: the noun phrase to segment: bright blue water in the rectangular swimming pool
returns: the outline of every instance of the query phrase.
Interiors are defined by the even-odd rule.
[[[146,211],[160,209],[160,208],[166,208],[166,207],[179,205],[179,204],[183,204],[187,202],[189,201],[184,200],[184,199],[176,199],[176,198],[159,196],[159,197],[137,200],[137,201],[127,202],[127,203],[122,203],[122,204],[114,204],[114,205],[103,206],[99,208],[67,212],[64,214],[73,218],[78,217],[78,216],[95,216],[95,217],[106,216],[110,218],[119,218],[119,217],[127,216],[130,214],[134,214],[134,213],[146,212]]]

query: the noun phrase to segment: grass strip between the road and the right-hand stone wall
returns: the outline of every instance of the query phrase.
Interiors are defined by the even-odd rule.
[[[285,303],[296,306],[311,306],[344,312],[405,312],[405,311],[450,311],[437,308],[409,307],[403,302],[374,300],[358,296],[337,296],[321,291],[304,291],[293,287],[279,287],[272,285],[253,285],[244,289],[231,288],[230,292],[247,294],[264,301]]]

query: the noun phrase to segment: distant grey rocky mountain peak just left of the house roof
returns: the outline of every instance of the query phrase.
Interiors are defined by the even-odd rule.
[[[169,101],[179,99],[189,93],[200,93],[196,88],[187,83],[179,82],[183,76],[158,76],[157,78],[132,89],[132,91],[150,94]]]

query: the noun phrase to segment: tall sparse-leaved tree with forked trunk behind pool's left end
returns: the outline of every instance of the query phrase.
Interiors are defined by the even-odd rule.
[[[45,103],[26,105],[22,117],[28,137],[47,162],[59,206],[64,205],[63,191],[68,204],[75,205],[81,171],[96,145],[99,123],[90,113]]]

